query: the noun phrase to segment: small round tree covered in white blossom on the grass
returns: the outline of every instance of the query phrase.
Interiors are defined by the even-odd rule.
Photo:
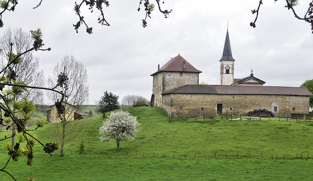
[[[112,112],[107,121],[100,127],[98,137],[101,141],[116,141],[117,151],[119,151],[119,142],[134,139],[135,134],[139,132],[139,123],[137,117],[128,112]]]

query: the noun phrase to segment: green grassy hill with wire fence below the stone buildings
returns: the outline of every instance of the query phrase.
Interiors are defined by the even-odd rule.
[[[116,152],[116,143],[97,138],[105,119],[96,115],[79,120],[85,122],[85,129],[65,145],[65,157],[58,157],[58,151],[50,157],[37,144],[32,166],[19,158],[18,162],[10,162],[7,170],[18,180],[26,176],[39,180],[310,180],[313,177],[312,121],[277,118],[168,122],[167,113],[160,108],[122,110],[137,116],[142,129],[134,140],[120,143],[120,152]],[[50,126],[45,125],[32,134],[42,142],[54,141],[49,135]],[[82,140],[85,152],[78,155]],[[7,158],[7,152],[0,151],[0,166]],[[0,173],[0,178],[10,179],[5,173]]]

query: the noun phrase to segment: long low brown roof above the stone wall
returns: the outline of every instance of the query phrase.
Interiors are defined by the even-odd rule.
[[[274,87],[274,86],[221,86],[221,85],[185,85],[164,92],[169,93],[201,93],[201,94],[263,94],[263,95],[313,95],[307,88]]]

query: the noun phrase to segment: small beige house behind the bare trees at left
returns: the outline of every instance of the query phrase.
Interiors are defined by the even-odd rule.
[[[82,119],[84,115],[88,115],[86,113],[83,113],[82,111],[76,109],[71,104],[66,104],[65,102],[62,102],[62,105],[65,106],[65,117],[67,120],[72,121],[75,119]],[[48,123],[57,123],[61,122],[61,119],[63,119],[63,115],[57,113],[57,109],[55,105],[50,106],[50,110],[46,111],[47,113],[47,122]]]

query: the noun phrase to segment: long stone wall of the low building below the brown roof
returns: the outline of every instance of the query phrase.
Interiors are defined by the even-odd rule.
[[[291,113],[309,113],[309,96],[289,95],[165,94],[162,108],[169,114],[177,108],[217,111],[217,104],[222,104],[222,113],[232,114],[246,114],[256,109],[267,109],[281,117]]]

